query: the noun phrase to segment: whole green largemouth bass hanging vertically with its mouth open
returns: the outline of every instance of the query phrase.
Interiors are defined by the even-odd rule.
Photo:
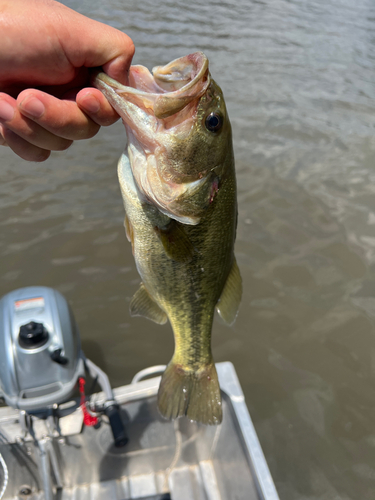
[[[93,77],[128,137],[118,176],[126,235],[142,278],[130,312],[159,324],[169,320],[173,328],[175,351],[160,383],[160,413],[219,424],[212,321],[216,307],[232,324],[242,294],[233,253],[231,126],[203,53],[152,72],[132,66],[129,86],[104,73]]]

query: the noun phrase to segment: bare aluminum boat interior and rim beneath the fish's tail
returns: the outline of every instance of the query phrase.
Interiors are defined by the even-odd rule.
[[[57,428],[36,421],[35,439],[23,433],[20,412],[0,408],[0,453],[9,472],[3,500],[278,500],[234,367],[216,366],[220,426],[163,420],[160,377],[115,389],[129,436],[123,448],[114,446],[105,421],[82,428],[80,408]],[[104,395],[93,397],[100,403]],[[41,468],[52,477],[53,496],[43,491]],[[0,492],[3,482],[0,466]]]

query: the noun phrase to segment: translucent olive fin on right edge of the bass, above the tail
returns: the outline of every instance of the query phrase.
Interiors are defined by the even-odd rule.
[[[237,317],[242,297],[242,279],[236,259],[221,293],[216,310],[228,325],[232,325]]]

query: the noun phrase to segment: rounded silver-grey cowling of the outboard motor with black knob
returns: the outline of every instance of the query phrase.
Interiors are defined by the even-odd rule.
[[[84,373],[79,332],[66,299],[47,287],[0,300],[0,396],[38,412],[67,401]]]

